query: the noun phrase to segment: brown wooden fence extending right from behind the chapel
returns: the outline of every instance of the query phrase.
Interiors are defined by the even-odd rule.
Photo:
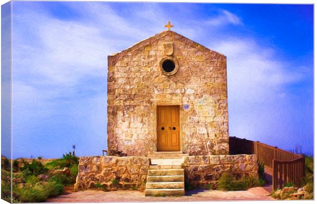
[[[273,189],[286,183],[301,186],[305,176],[305,156],[285,151],[261,142],[229,137],[229,153],[255,154],[258,161],[273,169]]]

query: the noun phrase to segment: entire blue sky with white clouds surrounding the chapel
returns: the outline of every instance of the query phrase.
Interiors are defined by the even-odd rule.
[[[107,56],[173,31],[227,56],[229,133],[313,154],[313,6],[13,2],[13,157],[107,147]]]

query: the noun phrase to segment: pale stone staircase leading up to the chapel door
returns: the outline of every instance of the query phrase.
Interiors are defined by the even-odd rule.
[[[155,152],[150,156],[145,196],[185,195],[182,156],[186,155],[181,152]]]

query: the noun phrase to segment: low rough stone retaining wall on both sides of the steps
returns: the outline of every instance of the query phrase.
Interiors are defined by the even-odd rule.
[[[149,166],[148,157],[81,157],[75,191],[98,185],[108,190],[143,189]],[[258,176],[256,155],[187,156],[183,166],[186,184],[197,188],[215,188],[224,172],[232,173],[235,179]]]

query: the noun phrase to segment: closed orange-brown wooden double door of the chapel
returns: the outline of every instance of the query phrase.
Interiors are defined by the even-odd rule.
[[[179,151],[179,106],[157,107],[157,151]]]

